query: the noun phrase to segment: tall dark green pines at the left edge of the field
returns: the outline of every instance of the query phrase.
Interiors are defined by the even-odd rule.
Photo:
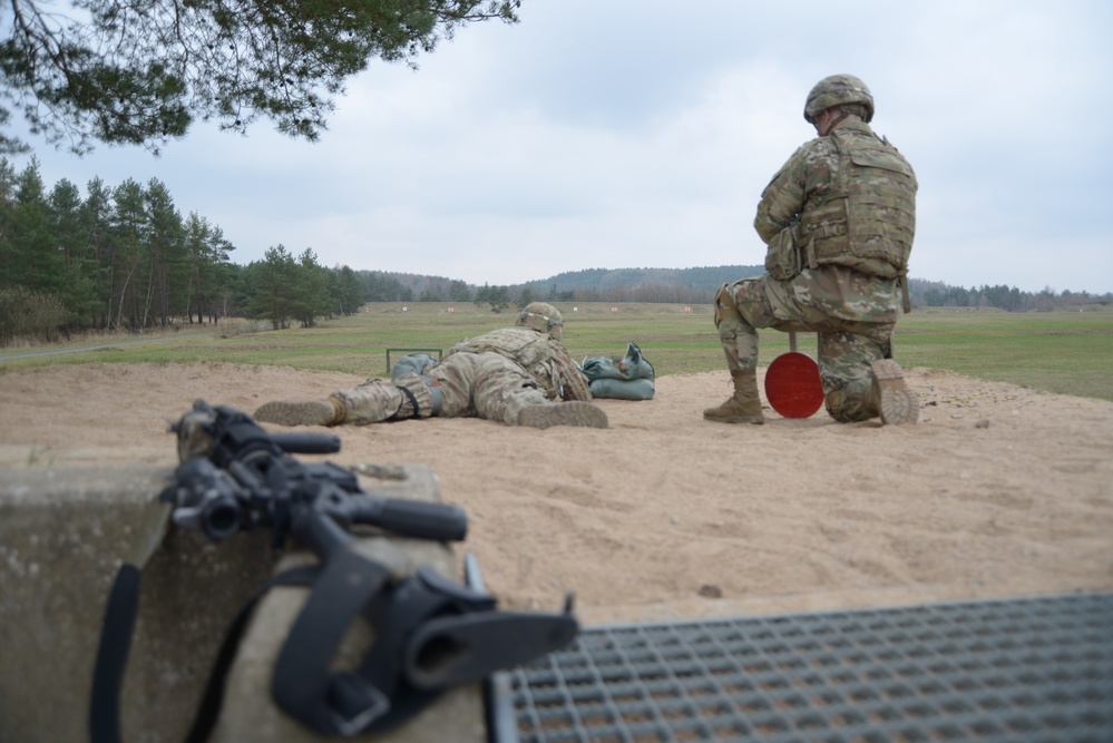
[[[369,293],[404,293],[389,278],[326,268],[283,245],[245,266],[219,226],[183,216],[166,186],[69,180],[47,188],[32,158],[0,159],[0,343],[82,331],[138,332],[227,316],[313,325],[351,314]],[[397,284],[397,285],[396,285]]]

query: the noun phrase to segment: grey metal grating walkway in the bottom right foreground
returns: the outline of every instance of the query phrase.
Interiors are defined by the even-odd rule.
[[[584,629],[497,743],[1113,742],[1113,594]]]

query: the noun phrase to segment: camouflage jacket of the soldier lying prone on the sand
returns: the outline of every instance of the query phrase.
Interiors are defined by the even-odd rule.
[[[516,362],[534,378],[549,400],[590,400],[587,378],[560,341],[533,327],[500,327],[453,345],[446,356],[497,353]]]

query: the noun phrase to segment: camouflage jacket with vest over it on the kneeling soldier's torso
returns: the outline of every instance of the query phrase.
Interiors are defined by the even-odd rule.
[[[868,125],[850,121],[798,149],[761,194],[754,229],[767,244],[793,232],[801,266],[842,265],[895,278],[916,232],[916,175]]]

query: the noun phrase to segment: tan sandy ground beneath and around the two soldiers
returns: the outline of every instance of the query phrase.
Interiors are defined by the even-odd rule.
[[[599,401],[606,430],[350,427],[334,429],[331,459],[428,465],[468,512],[458,555],[478,557],[500,605],[556,609],[574,592],[586,624],[1113,589],[1113,403],[908,379],[915,427],[769,410],[763,427],[706,423],[730,391],[723,371],[661,378],[647,402]],[[360,381],[233,364],[8,371],[0,478],[173,467],[167,424],[195,399],[252,412]]]

